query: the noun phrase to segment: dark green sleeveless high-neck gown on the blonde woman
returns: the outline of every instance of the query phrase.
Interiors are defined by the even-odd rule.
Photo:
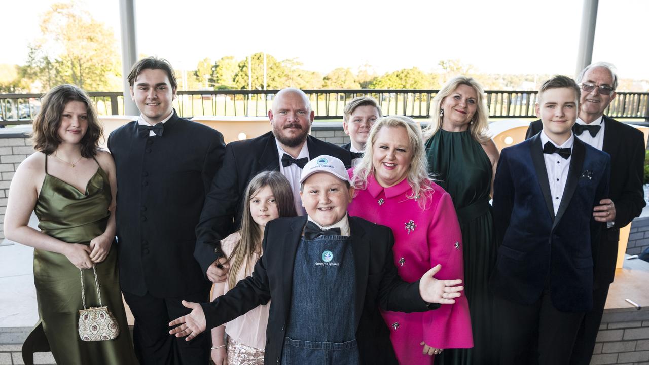
[[[445,350],[435,364],[495,364],[493,299],[489,275],[496,262],[496,242],[489,205],[492,168],[470,131],[439,130],[426,142],[428,171],[453,199],[462,232],[465,294],[469,299],[472,349]]]

